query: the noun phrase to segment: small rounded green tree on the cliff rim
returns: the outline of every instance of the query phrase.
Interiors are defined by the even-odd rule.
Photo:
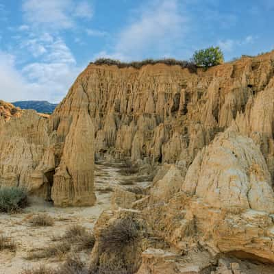
[[[223,63],[223,52],[219,47],[209,47],[195,51],[191,58],[196,66],[202,66],[206,69],[210,66],[216,66]]]

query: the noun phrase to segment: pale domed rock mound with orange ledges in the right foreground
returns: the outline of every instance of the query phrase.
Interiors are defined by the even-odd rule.
[[[235,258],[245,259],[243,264],[274,263],[271,175],[260,147],[242,136],[236,125],[199,151],[187,172],[179,163],[164,165],[149,195],[127,199],[126,204],[117,199],[129,196],[134,195],[114,193],[118,209],[104,212],[95,229],[110,226],[122,212],[142,224],[142,240],[136,247],[138,274],[245,274],[256,272],[242,271]],[[98,247],[102,239],[95,236]],[[112,258],[123,260],[124,250]],[[107,260],[105,252],[95,248],[92,258],[97,259],[92,262],[100,265]],[[225,261],[218,265],[220,256]],[[264,272],[262,265],[260,270],[271,273],[269,269],[274,266]]]

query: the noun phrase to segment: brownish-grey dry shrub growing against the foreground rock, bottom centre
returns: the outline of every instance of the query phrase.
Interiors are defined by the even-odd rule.
[[[134,242],[139,236],[139,226],[136,221],[126,217],[117,219],[101,232],[103,249],[119,249]]]

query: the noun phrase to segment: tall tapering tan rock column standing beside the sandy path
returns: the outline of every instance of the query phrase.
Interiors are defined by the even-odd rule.
[[[94,192],[94,129],[88,111],[80,110],[66,136],[60,166],[53,179],[55,206],[92,206]]]

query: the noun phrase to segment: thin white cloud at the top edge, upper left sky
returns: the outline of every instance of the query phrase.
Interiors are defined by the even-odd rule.
[[[87,1],[73,0],[24,0],[23,12],[30,24],[55,30],[75,27],[73,17],[90,19],[93,15]]]

